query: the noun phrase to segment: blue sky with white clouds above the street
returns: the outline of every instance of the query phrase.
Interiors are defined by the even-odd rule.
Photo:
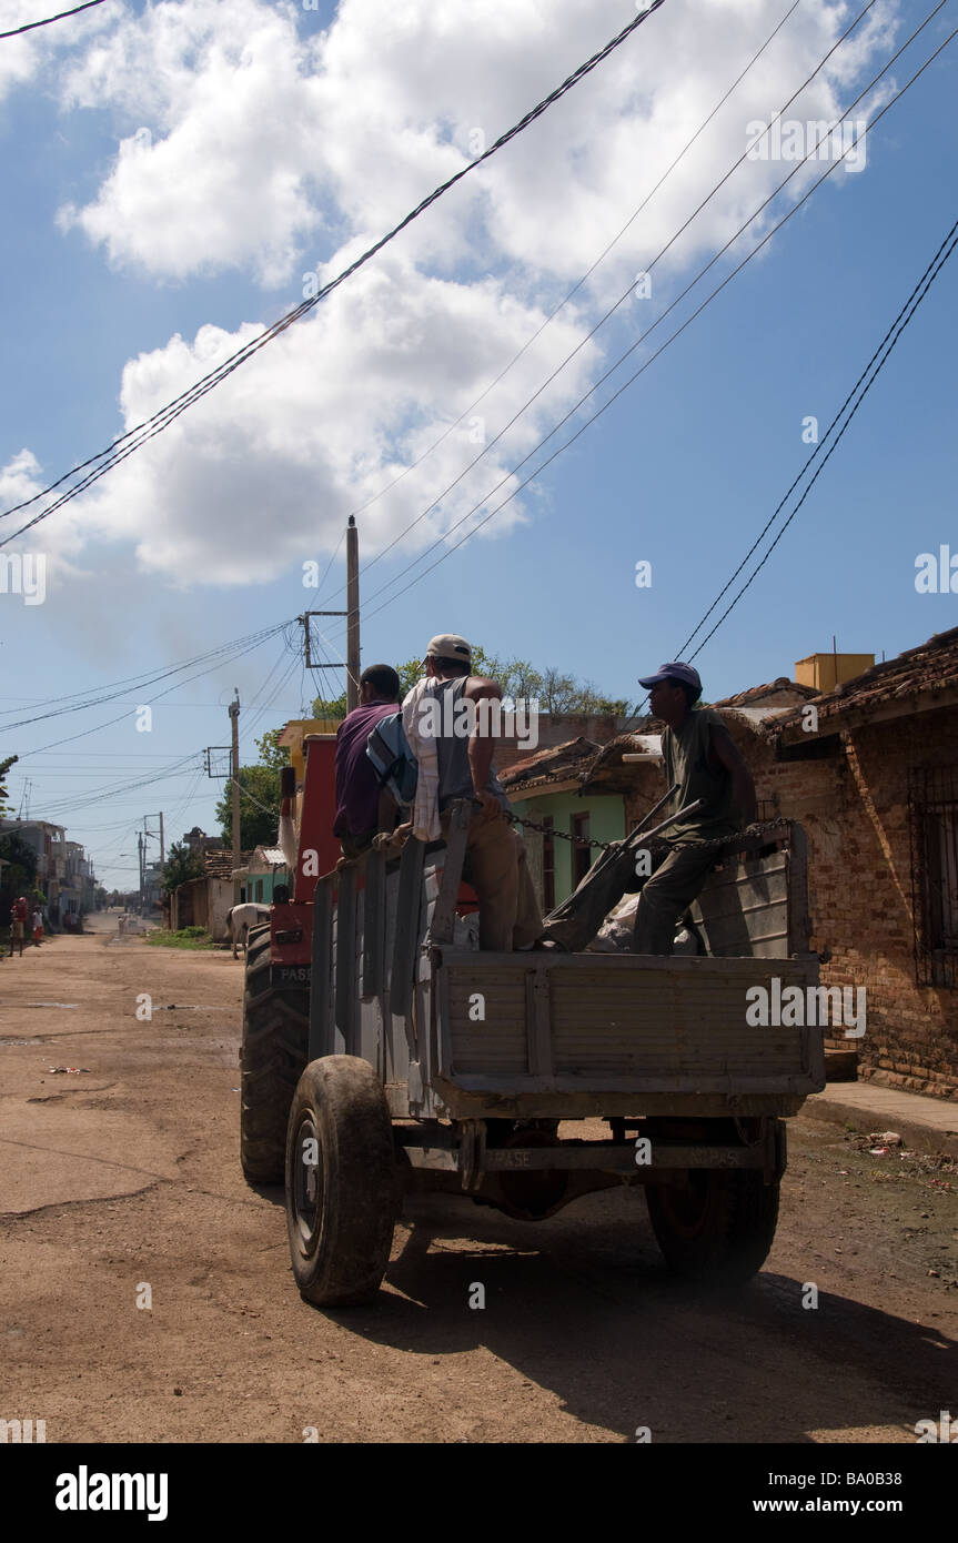
[[[640,674],[694,654],[716,701],[833,639],[881,659],[955,625],[955,594],[915,580],[921,554],[958,559],[958,258],[696,653],[958,218],[958,39],[893,100],[958,0],[890,68],[932,0],[873,0],[839,43],[865,6],[665,0],[19,535],[49,485],[313,296],[636,6],[105,0],[0,39],[0,759],[20,758],[17,810],[66,826],[110,887],[136,884],[143,815],[164,810],[167,841],[216,832],[204,750],[228,744],[233,691],[247,762],[342,690],[342,670],[307,671],[296,617],[344,608],[350,514],[364,665],[455,631],[636,702]],[[57,9],[0,0],[0,31]],[[847,137],[816,150],[815,125],[845,113]],[[313,626],[342,660],[344,620]]]

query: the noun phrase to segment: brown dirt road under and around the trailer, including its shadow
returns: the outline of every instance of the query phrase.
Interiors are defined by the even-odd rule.
[[[537,1227],[420,1200],[373,1307],[309,1307],[282,1194],[239,1171],[242,964],[99,921],[0,964],[0,1418],[48,1441],[913,1443],[958,1410],[958,1177],[805,1119],[736,1296],[677,1288],[623,1190]]]

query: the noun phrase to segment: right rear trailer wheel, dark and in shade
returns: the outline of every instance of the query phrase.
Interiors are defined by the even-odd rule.
[[[756,1168],[696,1168],[690,1188],[648,1185],[648,1214],[673,1275],[744,1285],[762,1268],[779,1216],[779,1183]]]

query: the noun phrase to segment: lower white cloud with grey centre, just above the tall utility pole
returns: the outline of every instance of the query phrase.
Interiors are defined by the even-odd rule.
[[[111,472],[85,497],[83,528],[136,542],[140,565],[177,583],[268,582],[329,551],[346,515],[401,471],[398,457],[430,444],[540,319],[494,282],[429,279],[387,259]],[[258,332],[202,327],[193,343],[174,338],[131,361],[122,387],[125,426],[147,418]],[[546,338],[558,363],[579,332],[563,322]],[[583,350],[560,400],[585,389],[594,363]],[[541,353],[538,364],[520,366],[503,383],[495,417],[454,430],[424,475],[398,483],[367,511],[367,549],[384,545],[454,481],[478,454],[478,437],[498,430],[535,389],[540,370]],[[546,400],[549,410],[554,403]],[[537,432],[535,421],[517,424],[509,454],[529,449]],[[503,455],[486,457],[421,523],[418,540],[447,529],[506,468]],[[512,505],[498,529],[518,517]]]

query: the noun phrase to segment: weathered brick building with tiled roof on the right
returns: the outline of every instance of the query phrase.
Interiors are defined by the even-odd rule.
[[[822,984],[867,989],[859,1075],[958,1100],[958,628],[835,691],[779,679],[713,707],[761,816],[805,827]],[[625,796],[626,829],[663,790],[659,727],[637,725],[648,759],[619,736],[582,776]]]

